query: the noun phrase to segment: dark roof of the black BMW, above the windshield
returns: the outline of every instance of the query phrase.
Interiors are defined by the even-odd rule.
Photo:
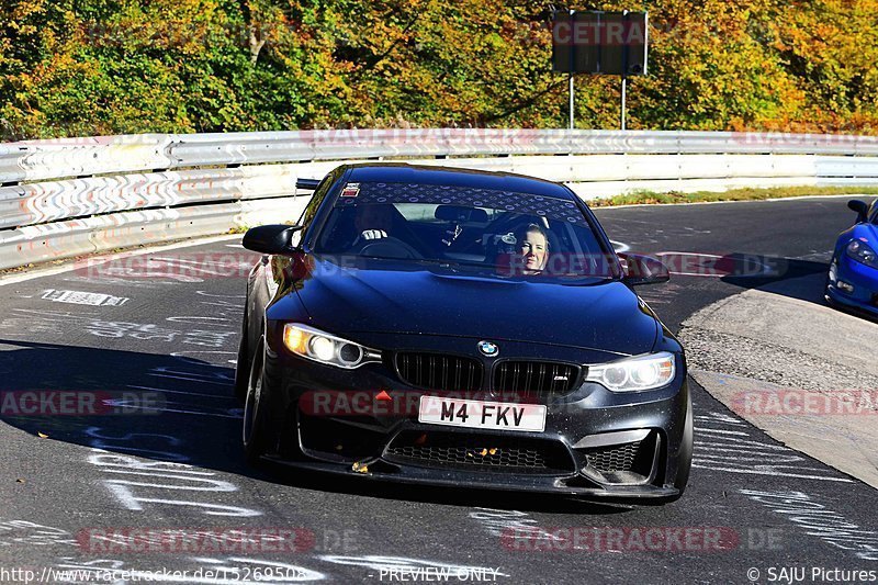
[[[351,182],[450,184],[543,195],[569,201],[576,200],[573,192],[560,183],[510,172],[408,165],[406,162],[350,165],[349,170],[350,175],[348,175],[347,181]]]

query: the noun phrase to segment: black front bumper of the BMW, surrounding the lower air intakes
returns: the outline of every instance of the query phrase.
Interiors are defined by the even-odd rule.
[[[284,465],[595,499],[673,499],[688,475],[691,403],[682,357],[677,376],[660,390],[614,394],[583,383],[540,402],[539,434],[419,423],[419,397],[436,393],[406,386],[387,363],[346,371],[281,350],[269,352],[266,375],[275,431],[267,459]],[[391,401],[378,400],[382,391]],[[314,400],[326,395],[334,398]],[[484,389],[453,397],[503,402]]]

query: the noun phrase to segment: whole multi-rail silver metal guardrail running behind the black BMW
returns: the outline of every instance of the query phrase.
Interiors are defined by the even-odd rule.
[[[296,180],[382,158],[533,175],[584,198],[878,184],[871,136],[415,128],[30,140],[0,144],[0,268],[222,233],[259,209],[294,220],[304,204]]]

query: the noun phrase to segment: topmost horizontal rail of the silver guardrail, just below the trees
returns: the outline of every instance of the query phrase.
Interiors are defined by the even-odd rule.
[[[0,145],[0,183],[211,165],[379,157],[597,154],[878,156],[878,137],[491,128],[99,136]]]

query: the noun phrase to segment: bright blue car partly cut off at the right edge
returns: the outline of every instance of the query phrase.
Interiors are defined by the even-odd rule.
[[[841,233],[826,279],[826,301],[878,317],[878,199],[853,200],[857,222]]]

